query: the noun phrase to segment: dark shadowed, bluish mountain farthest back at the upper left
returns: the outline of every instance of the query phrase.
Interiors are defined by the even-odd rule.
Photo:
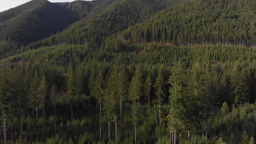
[[[106,0],[107,2],[111,2]],[[0,13],[0,41],[28,44],[67,28],[91,11],[106,7],[103,1],[51,3],[33,0]]]

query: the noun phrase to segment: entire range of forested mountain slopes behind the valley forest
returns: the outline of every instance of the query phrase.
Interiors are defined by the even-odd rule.
[[[253,0],[34,0],[0,13],[0,59],[56,44],[113,50],[118,43],[253,47],[255,8]]]

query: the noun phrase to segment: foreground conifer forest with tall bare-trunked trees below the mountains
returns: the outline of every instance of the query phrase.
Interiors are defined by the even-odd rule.
[[[11,62],[2,68],[0,97],[10,107],[2,111],[8,140],[135,143],[135,133],[137,143],[255,139],[255,50],[122,47],[106,53],[55,45],[2,60]]]

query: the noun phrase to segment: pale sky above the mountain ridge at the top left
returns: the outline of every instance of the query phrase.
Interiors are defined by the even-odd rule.
[[[0,12],[10,8],[17,7],[31,0],[0,0]],[[48,0],[50,2],[73,2],[74,0]],[[86,0],[91,1],[91,0]]]

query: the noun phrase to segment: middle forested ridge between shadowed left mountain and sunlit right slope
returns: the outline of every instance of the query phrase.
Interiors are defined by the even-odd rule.
[[[83,19],[37,45],[85,44],[97,46],[111,34],[123,31],[129,26],[142,22],[168,5],[179,3],[176,0],[116,0],[106,9],[89,19]]]

